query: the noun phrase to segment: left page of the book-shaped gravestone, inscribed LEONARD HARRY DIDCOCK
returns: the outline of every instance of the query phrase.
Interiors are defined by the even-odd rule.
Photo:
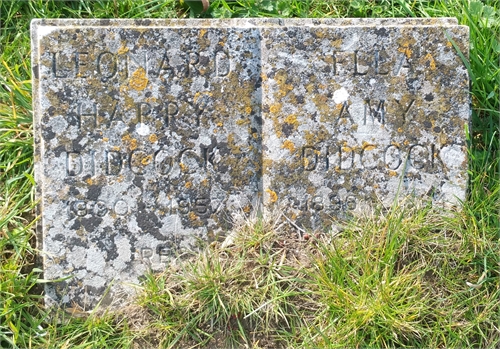
[[[127,297],[257,204],[259,32],[170,22],[32,23],[48,305]]]

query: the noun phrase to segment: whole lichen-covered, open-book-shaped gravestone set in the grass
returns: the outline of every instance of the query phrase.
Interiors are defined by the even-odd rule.
[[[48,304],[94,307],[279,207],[323,229],[465,195],[453,19],[34,20]],[[107,292],[107,290],[109,292]]]

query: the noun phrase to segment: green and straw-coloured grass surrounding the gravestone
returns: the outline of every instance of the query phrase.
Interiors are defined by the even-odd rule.
[[[0,0],[0,347],[500,346],[500,8],[494,0]],[[467,200],[406,203],[331,234],[258,217],[233,243],[147,275],[115,312],[48,316],[34,268],[29,21],[456,17],[470,27]]]

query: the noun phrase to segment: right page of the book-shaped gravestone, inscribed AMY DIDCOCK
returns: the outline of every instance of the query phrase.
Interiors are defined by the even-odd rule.
[[[464,199],[468,28],[262,29],[263,188],[304,228],[396,197]]]

